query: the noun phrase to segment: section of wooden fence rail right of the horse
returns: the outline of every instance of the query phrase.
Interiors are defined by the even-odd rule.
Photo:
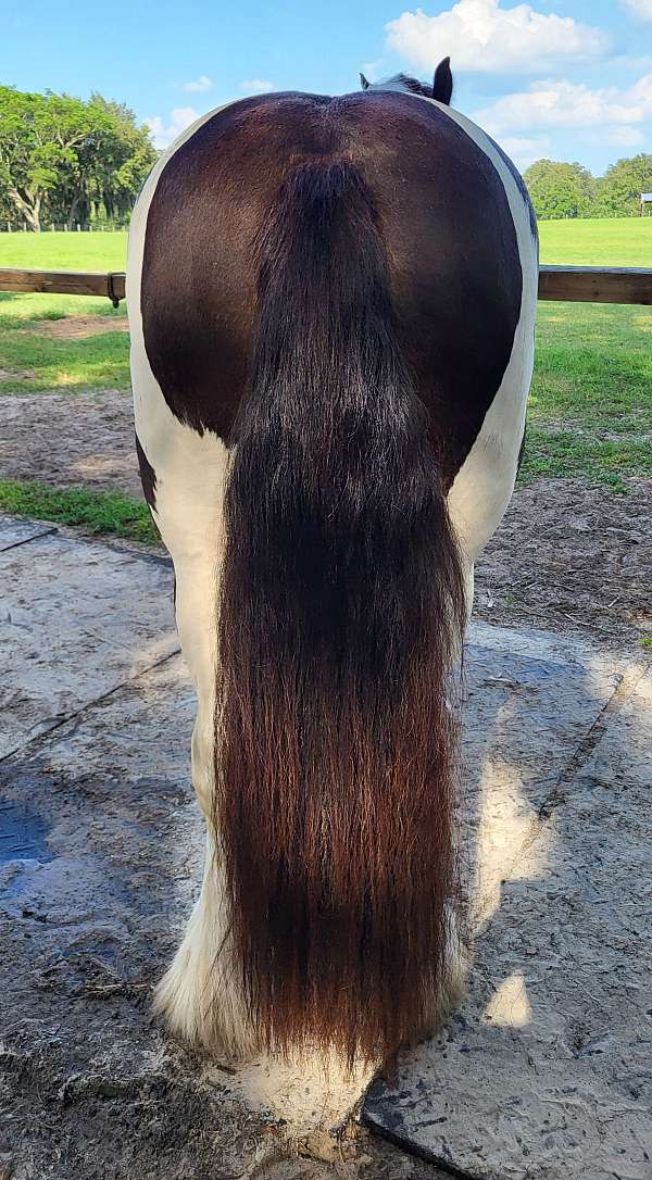
[[[652,303],[652,268],[541,267],[539,299],[569,303]]]

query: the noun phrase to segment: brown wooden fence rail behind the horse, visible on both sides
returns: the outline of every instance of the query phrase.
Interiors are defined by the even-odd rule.
[[[124,296],[124,273],[97,270],[19,270],[0,268],[0,291],[41,291],[48,295],[103,295],[118,307]],[[541,267],[539,299],[569,303],[652,304],[652,268]]]

